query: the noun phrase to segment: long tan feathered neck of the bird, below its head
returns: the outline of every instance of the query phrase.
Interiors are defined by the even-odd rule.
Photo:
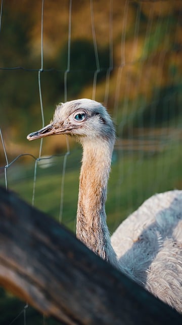
[[[76,232],[88,248],[117,266],[105,212],[112,151],[108,142],[83,145]]]

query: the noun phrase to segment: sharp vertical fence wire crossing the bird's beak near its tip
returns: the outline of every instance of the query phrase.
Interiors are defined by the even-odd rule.
[[[43,115],[43,105],[42,105],[42,95],[41,95],[40,73],[43,71],[43,8],[44,8],[44,0],[42,0],[42,6],[41,6],[41,41],[40,41],[41,68],[38,71],[38,91],[39,91],[39,99],[40,99],[40,110],[41,110],[41,118],[42,118],[42,127],[44,126],[44,115]],[[40,159],[40,156],[41,156],[42,140],[43,139],[40,139],[39,155],[38,155],[38,159],[35,160],[35,166],[34,166],[32,206],[34,206],[34,202],[35,202],[35,186],[36,186],[36,175],[37,175],[37,161]]]

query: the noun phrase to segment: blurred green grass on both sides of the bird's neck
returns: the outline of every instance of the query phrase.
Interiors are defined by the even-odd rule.
[[[181,150],[171,143],[159,153],[115,151],[108,184],[107,220],[111,233],[117,225],[156,192],[181,188]],[[75,231],[81,149],[67,157],[62,222]],[[47,164],[48,160],[45,160]],[[37,166],[34,205],[58,219],[64,156],[54,157],[49,167]],[[8,169],[9,187],[32,203],[34,160],[30,164],[13,164]],[[3,178],[1,178],[3,183]]]

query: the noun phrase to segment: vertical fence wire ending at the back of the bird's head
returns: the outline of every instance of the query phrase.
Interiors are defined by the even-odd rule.
[[[113,0],[110,0],[110,10],[109,10],[109,69],[107,69],[106,73],[106,88],[105,88],[105,96],[104,103],[107,106],[108,98],[109,98],[109,81],[110,74],[113,70]]]

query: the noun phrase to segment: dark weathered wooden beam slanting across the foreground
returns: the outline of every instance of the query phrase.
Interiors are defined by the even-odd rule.
[[[0,188],[0,283],[67,324],[171,324],[182,316]]]

